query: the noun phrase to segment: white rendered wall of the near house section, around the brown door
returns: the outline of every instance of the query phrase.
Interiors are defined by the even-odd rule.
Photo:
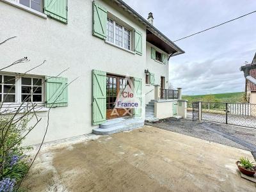
[[[109,12],[143,33],[142,56],[123,51],[92,36],[92,1],[68,1],[68,24],[50,18],[43,19],[0,1],[0,41],[17,36],[0,46],[0,67],[28,56],[28,63],[10,67],[6,71],[22,73],[46,60],[45,65],[36,68],[31,74],[56,76],[70,67],[62,76],[68,77],[68,81],[79,77],[68,88],[68,107],[51,109],[45,141],[87,134],[97,127],[92,126],[91,115],[93,69],[140,77],[145,93],[145,27],[115,4],[106,2],[101,1]],[[26,145],[39,143],[42,139],[47,112],[40,112],[40,115],[43,120],[31,132]],[[145,116],[144,110],[142,116]]]

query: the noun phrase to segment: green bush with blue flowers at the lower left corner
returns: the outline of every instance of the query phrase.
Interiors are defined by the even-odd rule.
[[[29,168],[29,158],[24,154],[28,148],[21,147],[29,116],[0,116],[0,191],[13,191]]]

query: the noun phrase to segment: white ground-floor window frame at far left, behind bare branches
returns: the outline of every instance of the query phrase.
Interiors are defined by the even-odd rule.
[[[0,104],[3,102],[3,106],[10,106],[10,105],[15,105],[15,106],[19,106],[20,104],[22,104],[22,92],[21,92],[21,78],[22,77],[28,77],[28,78],[35,78],[35,79],[42,79],[42,101],[40,102],[33,102],[33,104],[45,104],[45,77],[42,76],[32,76],[32,75],[26,75],[26,76],[20,76],[19,74],[11,74],[11,73],[4,73],[1,72],[0,75],[2,76],[13,76],[15,77],[15,102],[3,102],[3,100],[0,102]],[[32,80],[33,81],[33,80]],[[3,81],[1,83],[1,85],[3,84]],[[3,87],[3,86],[2,86]],[[1,97],[3,95],[3,90],[1,93]],[[3,97],[2,97],[3,99]],[[28,102],[24,102],[24,104],[28,104]]]

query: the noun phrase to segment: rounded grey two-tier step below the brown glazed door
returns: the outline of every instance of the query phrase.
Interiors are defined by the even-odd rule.
[[[129,131],[143,126],[144,120],[141,118],[116,118],[101,124],[99,128],[93,129],[92,132],[98,135],[108,135],[116,132]]]

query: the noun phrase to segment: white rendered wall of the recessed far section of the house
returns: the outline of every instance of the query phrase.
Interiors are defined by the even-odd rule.
[[[151,47],[154,47],[156,51],[163,52],[161,49],[157,48],[156,46],[150,44],[147,42],[146,45],[146,51],[147,51],[147,68],[149,72],[152,72],[155,74],[155,84],[161,84],[161,76],[165,77],[165,88],[168,88],[169,84],[169,64],[163,64],[158,61],[151,59]],[[164,52],[165,53],[165,52]],[[166,54],[166,53],[165,53]],[[154,85],[146,85],[145,93],[150,92],[150,90],[154,89]],[[154,99],[154,91],[148,93],[146,95],[146,104],[150,102],[150,100]]]

